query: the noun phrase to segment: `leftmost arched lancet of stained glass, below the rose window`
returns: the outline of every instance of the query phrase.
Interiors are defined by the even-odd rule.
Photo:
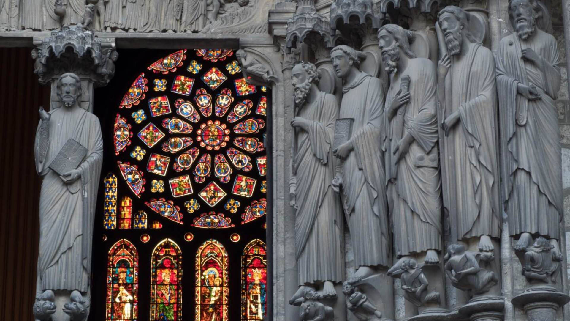
[[[126,239],[115,243],[107,259],[107,320],[137,320],[139,255]]]

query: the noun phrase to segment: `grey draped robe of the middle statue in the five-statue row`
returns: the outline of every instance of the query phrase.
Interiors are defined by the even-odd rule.
[[[400,90],[403,75],[410,76],[410,101],[388,120],[385,114],[385,162],[388,204],[394,223],[397,256],[413,252],[441,250],[441,181],[437,149],[435,66],[425,58],[410,59],[400,77],[390,82],[385,106],[390,106]],[[404,126],[397,126],[403,117]],[[393,154],[406,131],[414,141],[396,163]]]

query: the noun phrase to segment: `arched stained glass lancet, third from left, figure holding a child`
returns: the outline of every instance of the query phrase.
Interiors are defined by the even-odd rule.
[[[196,321],[228,320],[228,256],[226,248],[209,239],[196,253]]]

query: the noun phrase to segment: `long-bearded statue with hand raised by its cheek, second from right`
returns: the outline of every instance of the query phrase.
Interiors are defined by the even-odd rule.
[[[495,61],[471,34],[469,18],[460,7],[447,6],[436,23],[443,51],[437,71],[443,206],[453,238],[480,237],[479,250],[489,251],[501,222]]]

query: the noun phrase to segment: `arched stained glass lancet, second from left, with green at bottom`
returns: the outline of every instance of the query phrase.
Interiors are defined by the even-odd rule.
[[[171,239],[152,252],[150,320],[182,320],[182,252]]]

